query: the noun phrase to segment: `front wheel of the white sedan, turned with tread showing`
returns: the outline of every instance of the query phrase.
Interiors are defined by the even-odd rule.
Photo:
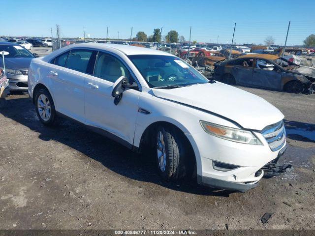
[[[156,166],[162,179],[178,180],[187,177],[189,175],[187,156],[189,151],[180,131],[167,125],[158,126],[155,143]]]

